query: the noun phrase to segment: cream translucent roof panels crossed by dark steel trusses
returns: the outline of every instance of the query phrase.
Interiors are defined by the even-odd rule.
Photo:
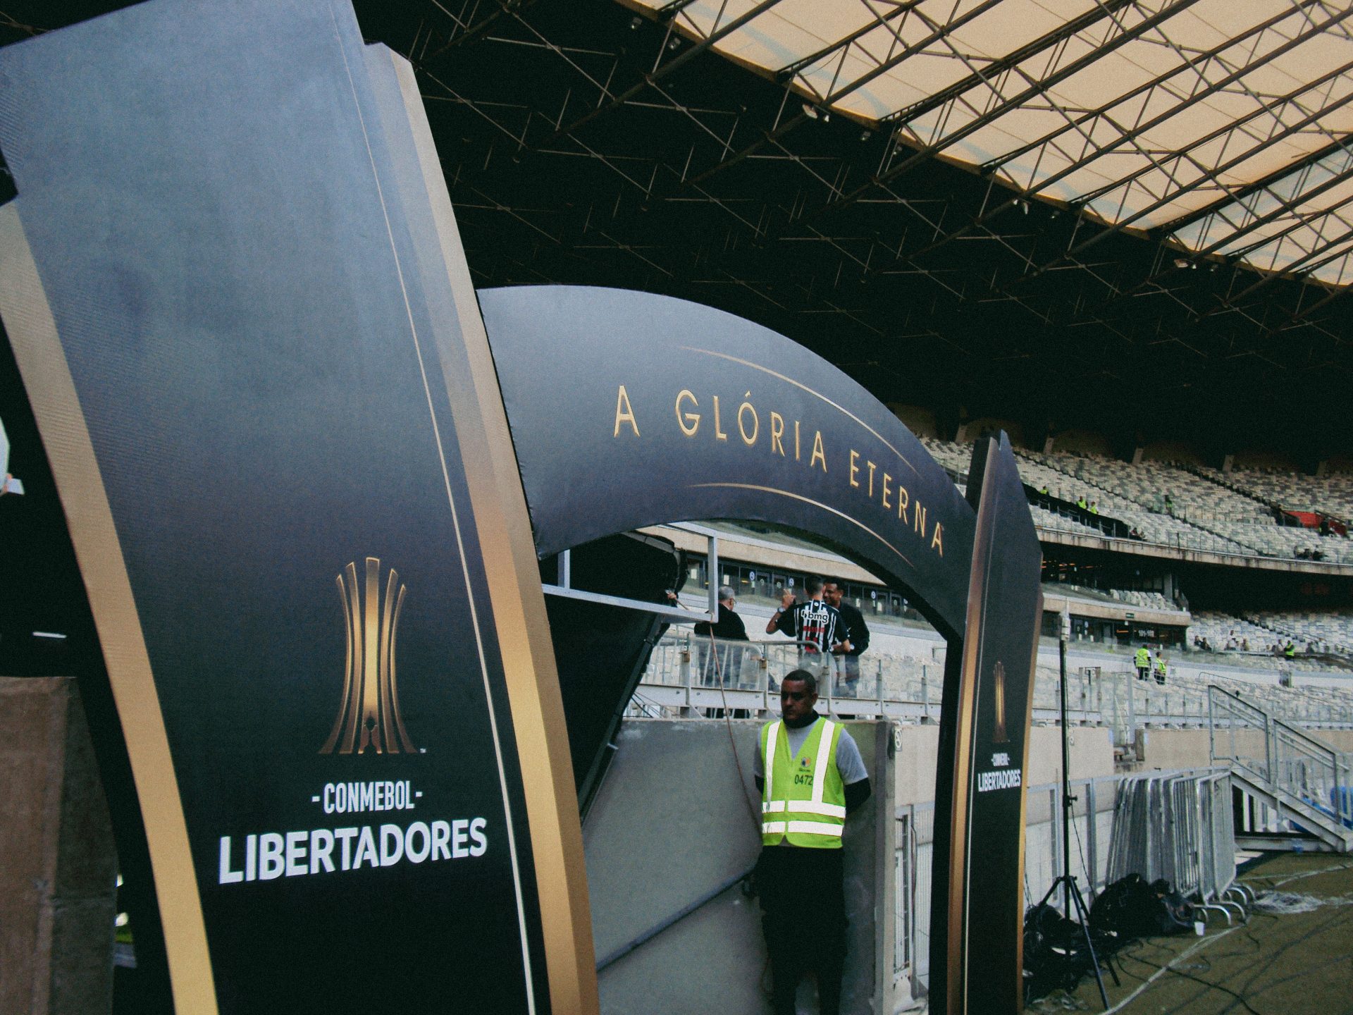
[[[1022,194],[1262,271],[1353,279],[1348,3],[626,1]]]

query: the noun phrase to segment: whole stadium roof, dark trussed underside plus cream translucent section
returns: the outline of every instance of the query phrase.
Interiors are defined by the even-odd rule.
[[[1346,3],[354,5],[482,287],[717,306],[947,424],[1348,451]]]

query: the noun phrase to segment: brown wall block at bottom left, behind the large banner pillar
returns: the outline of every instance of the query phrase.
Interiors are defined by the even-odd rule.
[[[74,681],[0,677],[0,1012],[107,1012],[118,863]]]

